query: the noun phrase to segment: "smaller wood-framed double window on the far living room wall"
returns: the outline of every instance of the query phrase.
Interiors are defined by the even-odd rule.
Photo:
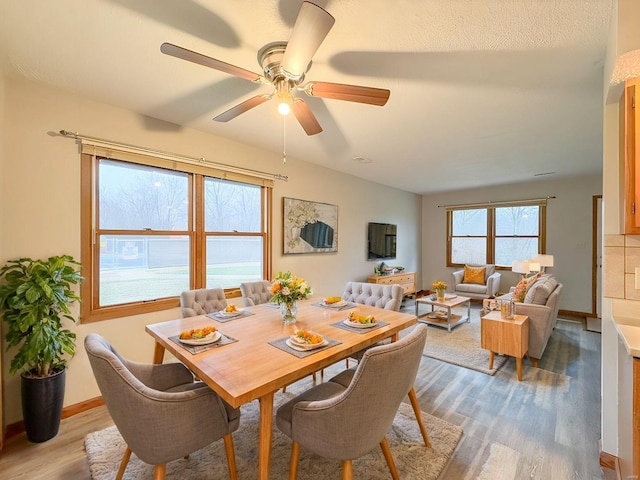
[[[544,252],[545,204],[449,208],[447,266],[511,267]]]

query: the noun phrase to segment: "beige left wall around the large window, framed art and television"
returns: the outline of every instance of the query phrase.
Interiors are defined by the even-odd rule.
[[[61,129],[162,151],[282,173],[288,182],[274,188],[274,272],[291,270],[309,281],[315,293],[341,294],[348,280],[373,272],[366,260],[369,221],[398,224],[398,259],[408,270],[420,265],[420,198],[339,174],[280,154],[188,128],[154,121],[118,107],[93,102],[25,81],[5,79],[0,129],[0,264],[20,256],[53,254],[80,257],[80,162],[74,140]],[[2,83],[0,83],[0,87]],[[0,88],[0,92],[2,89]],[[1,137],[0,137],[1,139]],[[338,253],[282,255],[282,197],[338,205]],[[150,361],[153,343],[144,325],[176,318],[177,309],[77,325],[77,354],[69,364],[65,405],[99,395],[82,347],[90,332],[106,336],[125,356]],[[3,336],[4,338],[4,336]],[[22,418],[20,379],[8,374],[11,353],[3,342],[4,421]]]

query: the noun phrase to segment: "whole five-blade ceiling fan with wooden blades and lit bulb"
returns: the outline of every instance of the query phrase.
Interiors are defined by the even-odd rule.
[[[160,51],[166,55],[214,68],[251,82],[273,86],[271,93],[251,97],[216,116],[215,121],[228,122],[276,97],[279,100],[278,111],[280,113],[284,115],[289,110],[293,111],[307,135],[315,135],[322,132],[322,127],[307,103],[296,95],[297,92],[304,92],[310,97],[332,98],[379,106],[387,103],[391,93],[382,88],[341,83],[313,81],[304,83],[305,75],[311,68],[311,58],[334,23],[335,19],[326,10],[311,2],[303,2],[289,41],[268,43],[258,51],[258,63],[263,71],[261,75],[171,43],[163,43]]]

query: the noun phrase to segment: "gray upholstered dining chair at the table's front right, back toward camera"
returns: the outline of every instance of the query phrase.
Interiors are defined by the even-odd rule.
[[[301,447],[341,460],[342,478],[351,479],[351,461],[378,444],[392,477],[398,478],[385,435],[413,387],[426,338],[427,327],[419,324],[397,342],[368,349],[348,386],[321,383],[278,409],[276,425],[293,442],[290,480],[297,477]]]

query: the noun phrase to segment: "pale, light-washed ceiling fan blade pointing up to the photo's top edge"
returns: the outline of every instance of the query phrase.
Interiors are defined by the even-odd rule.
[[[306,72],[309,62],[325,39],[335,18],[310,2],[303,2],[291,31],[281,68],[286,77],[297,80]]]

